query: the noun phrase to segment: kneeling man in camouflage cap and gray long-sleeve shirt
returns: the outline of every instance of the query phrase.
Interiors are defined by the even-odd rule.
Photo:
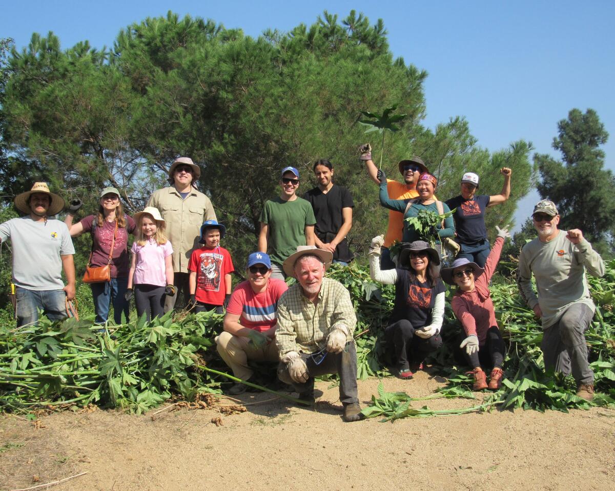
[[[577,396],[593,399],[593,372],[587,361],[584,332],[595,305],[587,287],[585,270],[601,277],[605,265],[581,230],[557,229],[560,215],[555,203],[542,200],[532,214],[538,238],[527,243],[519,256],[517,283],[525,301],[542,320],[541,350],[545,369],[573,374]],[[531,285],[536,278],[538,296]]]

